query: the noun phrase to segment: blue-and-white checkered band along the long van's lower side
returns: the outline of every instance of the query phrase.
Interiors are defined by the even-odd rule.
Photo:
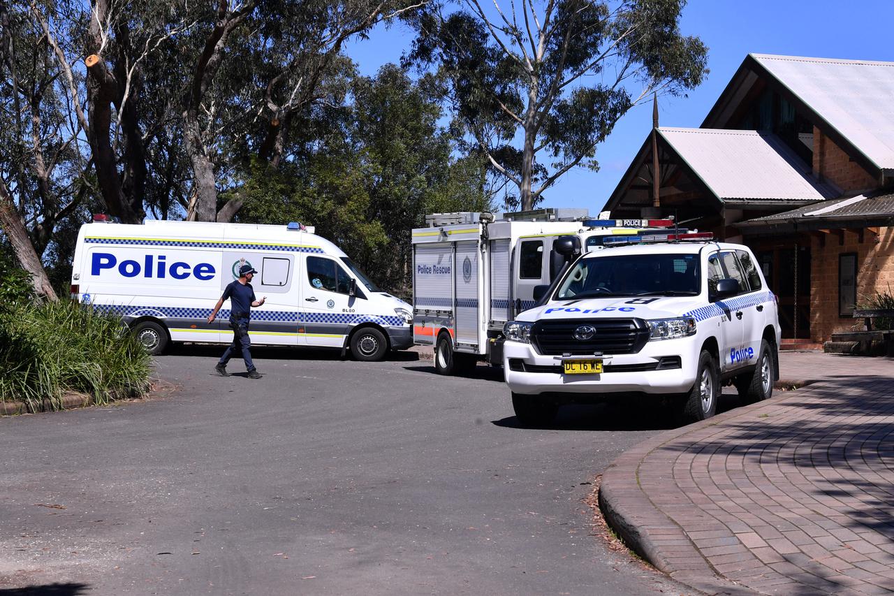
[[[114,312],[121,317],[156,317],[157,319],[207,319],[211,309],[189,309],[164,306],[124,306],[121,304],[94,304],[93,308],[100,312]],[[219,319],[229,319],[230,311],[221,309]],[[369,314],[347,314],[337,312],[296,312],[296,311],[252,311],[254,321],[274,321],[280,323],[341,323],[358,325],[360,323],[376,323],[384,327],[401,327],[401,317],[378,316]]]

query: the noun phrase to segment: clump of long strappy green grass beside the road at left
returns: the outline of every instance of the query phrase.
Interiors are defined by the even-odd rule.
[[[0,311],[0,401],[35,412],[66,391],[97,404],[148,391],[150,358],[121,319],[62,300]]]

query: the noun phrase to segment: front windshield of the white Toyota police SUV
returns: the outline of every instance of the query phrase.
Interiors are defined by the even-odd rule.
[[[556,300],[607,296],[694,296],[701,291],[697,254],[627,254],[581,259]]]

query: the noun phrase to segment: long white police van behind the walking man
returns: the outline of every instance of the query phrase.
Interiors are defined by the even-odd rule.
[[[381,360],[413,344],[410,306],[375,286],[313,228],[147,220],[81,226],[72,298],[121,316],[150,353],[169,342],[229,344],[229,302],[207,318],[241,265],[264,306],[251,310],[255,345],[350,349]]]

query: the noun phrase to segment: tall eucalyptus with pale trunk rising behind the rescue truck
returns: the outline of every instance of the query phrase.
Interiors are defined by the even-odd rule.
[[[708,72],[679,30],[685,0],[479,0],[428,4],[406,62],[437,67],[464,131],[531,209],[653,92],[677,95]],[[520,145],[520,147],[519,147]]]

